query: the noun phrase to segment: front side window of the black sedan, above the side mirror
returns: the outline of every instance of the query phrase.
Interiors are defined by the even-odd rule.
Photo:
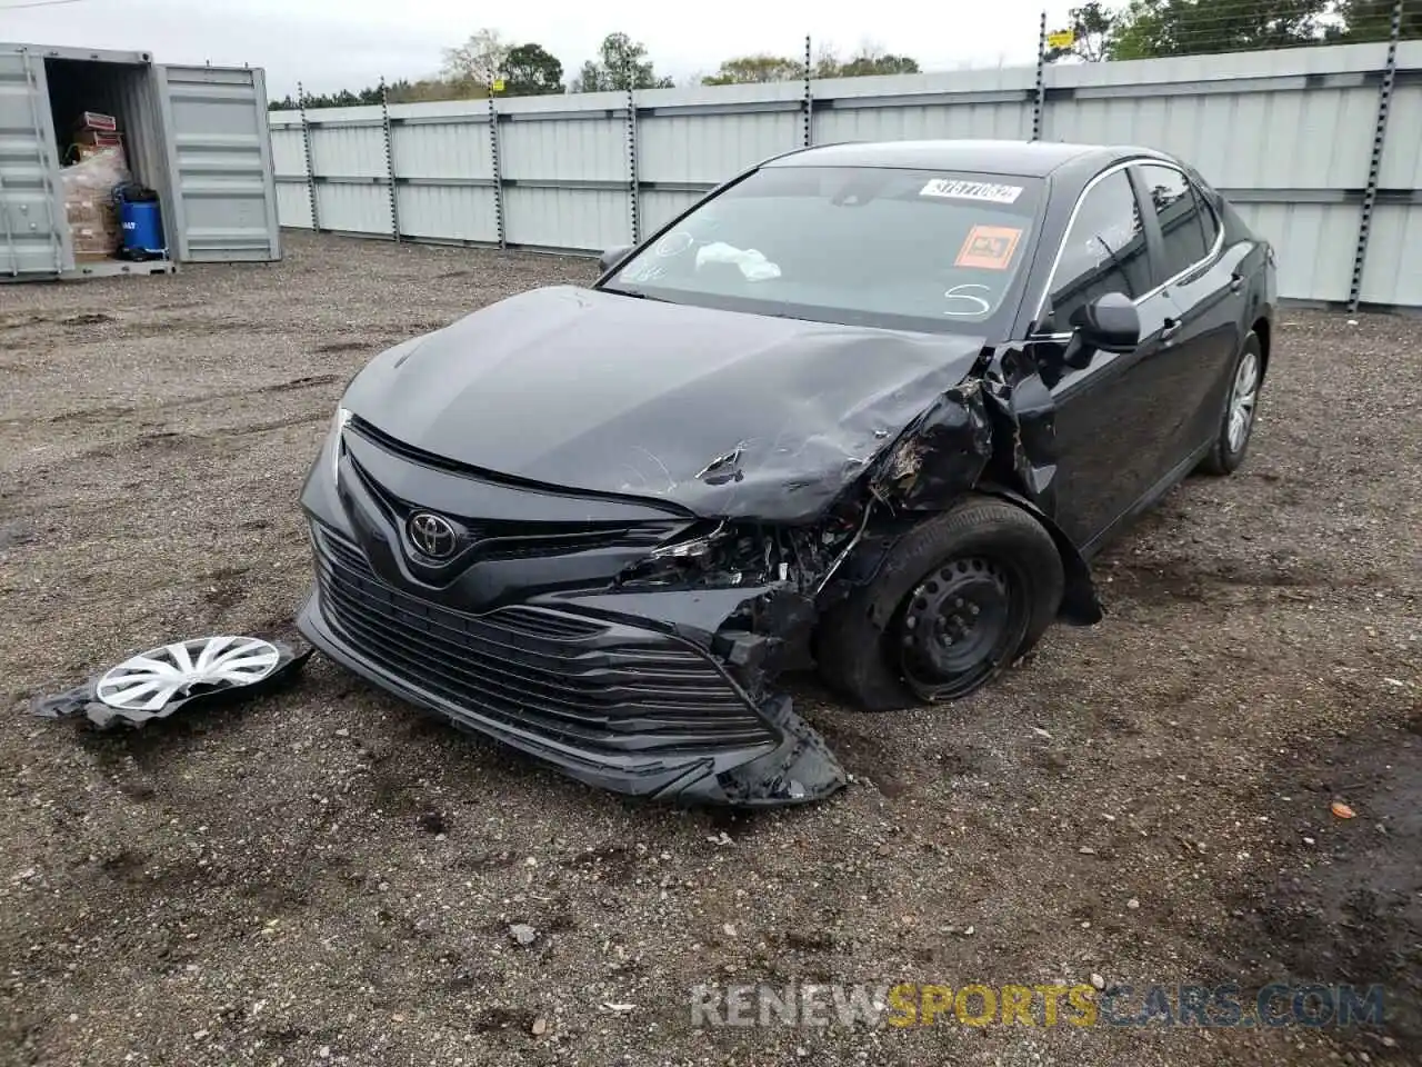
[[[1135,189],[1123,169],[1099,179],[1076,206],[1048,285],[1052,329],[1103,293],[1132,300],[1152,289],[1150,260]]]

